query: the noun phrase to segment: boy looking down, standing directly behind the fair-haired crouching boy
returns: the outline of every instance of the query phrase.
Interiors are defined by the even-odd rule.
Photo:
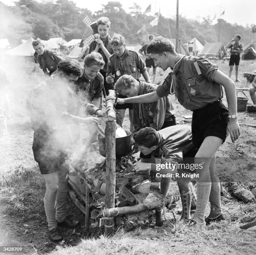
[[[126,49],[125,38],[122,35],[114,36],[110,44],[112,45],[114,54],[109,58],[107,67],[108,83],[115,83],[118,78],[124,74],[133,76],[136,80],[141,77],[141,74],[146,82],[151,82],[148,76],[146,67],[142,59],[138,56],[138,53],[132,50]],[[114,75],[114,78],[113,78]],[[123,96],[119,96],[122,98]],[[131,124],[133,123],[133,105],[125,104],[123,106],[117,104],[115,109],[120,113],[121,124],[125,115],[125,109],[129,108],[129,117]],[[132,126],[131,126],[131,129]],[[132,131],[132,130],[131,130]]]

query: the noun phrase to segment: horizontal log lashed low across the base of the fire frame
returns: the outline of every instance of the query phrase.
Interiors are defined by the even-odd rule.
[[[131,205],[131,206],[124,206],[124,207],[115,207],[111,209],[104,209],[103,210],[103,217],[114,217],[117,215],[124,215],[127,213],[136,213],[141,212],[145,210],[151,210],[151,209],[160,209],[164,205],[168,205],[172,201],[173,197],[165,198],[162,200],[158,200],[154,203],[148,202],[148,203],[140,203],[138,205]],[[177,198],[178,200],[178,198]],[[176,200],[176,202],[177,202]]]

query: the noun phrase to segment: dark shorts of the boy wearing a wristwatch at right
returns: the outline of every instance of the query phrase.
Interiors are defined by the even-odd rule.
[[[218,100],[212,104],[193,111],[192,142],[199,149],[205,137],[216,136],[226,139],[228,125],[228,109]]]

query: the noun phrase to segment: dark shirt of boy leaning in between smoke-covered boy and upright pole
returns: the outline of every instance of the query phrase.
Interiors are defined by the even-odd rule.
[[[104,78],[101,73],[97,73],[93,80],[90,80],[84,73],[75,82],[77,96],[82,98],[83,101],[92,102],[93,98],[99,98],[103,96]]]

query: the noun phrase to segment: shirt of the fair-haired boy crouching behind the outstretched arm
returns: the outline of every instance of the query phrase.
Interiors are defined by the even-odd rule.
[[[139,81],[138,95],[156,91],[157,85]],[[135,132],[149,126],[160,130],[165,121],[172,121],[174,107],[168,96],[153,103],[133,104],[133,125]]]

